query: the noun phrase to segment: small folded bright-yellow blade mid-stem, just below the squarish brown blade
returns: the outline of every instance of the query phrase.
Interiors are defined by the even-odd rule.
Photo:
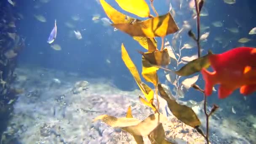
[[[141,75],[144,77],[147,82],[151,82],[154,84],[154,86],[157,86],[158,83],[158,76],[157,76],[157,70],[159,68],[150,66],[151,64],[147,59],[142,56],[142,72]]]

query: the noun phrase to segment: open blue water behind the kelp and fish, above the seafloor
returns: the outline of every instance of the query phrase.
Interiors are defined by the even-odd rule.
[[[149,3],[149,0],[146,0]],[[182,27],[183,21],[189,21],[192,31],[196,33],[196,21],[192,19],[192,11],[188,8],[190,0],[155,0],[154,6],[159,15],[165,14],[169,10],[169,3],[172,4],[173,10],[176,11],[174,20],[179,28]],[[134,18],[139,18],[131,13],[123,11],[115,0],[106,0],[118,11],[128,14]],[[51,69],[63,70],[66,72],[77,72],[80,75],[91,78],[106,78],[113,80],[114,85],[124,91],[133,91],[138,89],[131,73],[121,59],[121,44],[124,43],[131,59],[141,72],[141,54],[136,50],[145,51],[139,43],[124,32],[115,31],[114,27],[105,27],[102,21],[93,22],[94,14],[100,14],[100,19],[107,17],[103,8],[96,0],[50,0],[48,3],[41,3],[40,0],[17,0],[16,6],[12,7],[6,0],[6,4],[15,13],[21,13],[24,19],[17,21],[17,33],[26,38],[26,46],[18,57],[18,66],[27,65],[29,67],[44,67]],[[40,5],[39,8],[34,8],[35,5]],[[181,9],[179,8],[181,5]],[[223,0],[206,0],[204,8],[208,11],[208,16],[202,16],[201,24],[209,26],[210,29],[204,32],[210,32],[207,42],[202,43],[204,51],[202,55],[207,54],[208,50],[213,53],[222,53],[229,49],[249,46],[256,47],[256,35],[248,35],[248,32],[256,27],[256,1],[255,0],[236,0],[235,4],[224,3]],[[178,14],[182,13],[182,14]],[[35,19],[34,14],[45,16],[46,22],[40,22]],[[151,9],[151,14],[155,16]],[[78,21],[72,20],[72,16],[79,16]],[[47,43],[48,36],[54,26],[54,20],[57,20],[57,38],[53,42],[61,46],[61,51],[55,51],[51,45]],[[139,18],[145,20],[144,18]],[[223,27],[213,27],[213,21],[221,21]],[[75,27],[69,28],[65,22],[72,23]],[[239,33],[234,34],[229,32],[227,28],[236,27]],[[77,40],[74,36],[70,37],[70,31],[79,30],[82,34],[82,39]],[[203,32],[201,33],[203,34]],[[226,47],[222,47],[215,37],[222,36],[223,43],[229,41]],[[168,35],[165,38],[171,43],[173,35]],[[242,37],[251,39],[248,43],[238,43]],[[232,38],[232,39],[230,39]],[[161,46],[161,39],[156,38],[158,49]],[[181,35],[181,46],[187,43],[190,37],[187,32]],[[179,47],[179,41],[177,45]],[[183,50],[182,54],[186,56],[195,55],[197,48]],[[111,61],[107,64],[106,60]],[[183,65],[181,65],[183,66]],[[179,66],[179,68],[181,67]],[[169,67],[173,69],[173,67]],[[165,83],[165,75],[163,70],[158,71],[160,82]],[[198,74],[197,74],[198,75]],[[184,77],[185,79],[187,77]],[[197,85],[204,87],[202,76],[199,76]],[[149,83],[149,86],[153,86]],[[218,90],[218,86],[216,87]],[[254,106],[256,93],[248,96],[248,101],[244,104],[250,106],[248,112],[239,112],[237,109],[237,117],[243,116],[246,113],[256,115],[256,107]],[[186,93],[184,101],[187,100],[202,101],[202,93],[189,89]],[[217,99],[217,92],[213,93],[208,99],[209,105],[225,104],[230,99],[243,101],[243,97],[239,91],[235,91],[232,96],[224,100]],[[241,102],[241,105],[243,103]],[[225,110],[225,109],[224,109]],[[226,109],[229,110],[230,109]]]

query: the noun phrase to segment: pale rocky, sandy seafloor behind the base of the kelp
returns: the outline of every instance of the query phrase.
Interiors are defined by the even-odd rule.
[[[17,80],[13,87],[23,88],[24,93],[15,101],[13,117],[2,136],[3,144],[11,138],[16,139],[14,144],[136,144],[129,133],[101,121],[93,123],[93,118],[102,114],[125,117],[129,105],[133,117],[138,119],[143,120],[153,113],[139,101],[138,95],[143,96],[141,91],[121,91],[106,79],[89,79],[77,73],[38,67],[17,68],[15,73]],[[88,84],[75,86],[78,81]],[[161,99],[160,104],[160,112],[166,115],[165,101]],[[193,107],[205,125],[201,108],[201,105]],[[256,116],[238,120],[221,118],[221,115],[222,112],[216,112],[210,121],[212,144],[256,144]],[[205,143],[191,127],[173,116],[168,119],[163,126],[169,141]],[[146,137],[144,141],[150,144]]]

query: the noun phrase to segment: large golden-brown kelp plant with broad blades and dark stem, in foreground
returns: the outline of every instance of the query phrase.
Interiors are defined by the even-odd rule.
[[[122,32],[131,35],[134,40],[145,49],[147,52],[138,51],[142,55],[142,77],[147,82],[150,82],[154,85],[155,91],[153,91],[147,84],[141,81],[139,72],[136,66],[133,64],[133,61],[129,57],[124,44],[121,46],[122,59],[126,67],[130,70],[133,75],[136,83],[141,89],[142,93],[145,96],[145,99],[139,96],[140,101],[150,107],[155,114],[149,115],[144,120],[138,120],[132,116],[131,107],[128,108],[126,117],[114,117],[111,115],[100,115],[94,119],[102,120],[104,123],[107,123],[111,127],[120,127],[123,131],[130,133],[135,141],[138,144],[144,144],[143,136],[148,136],[152,144],[172,144],[170,141],[165,140],[165,130],[162,123],[168,121],[167,117],[159,113],[160,103],[158,100],[158,93],[163,99],[167,101],[168,108],[171,110],[173,115],[177,117],[181,122],[186,125],[195,128],[209,144],[209,128],[208,128],[208,119],[209,116],[217,109],[217,106],[214,105],[211,109],[211,112],[208,114],[206,112],[206,96],[204,101],[204,111],[207,119],[206,134],[199,128],[201,125],[200,120],[198,119],[195,112],[192,108],[187,107],[176,102],[176,99],[168,93],[161,85],[158,80],[157,70],[164,69],[165,71],[173,72],[179,76],[189,76],[196,72],[199,72],[202,68],[207,68],[210,66],[208,61],[208,55],[200,57],[200,11],[203,7],[203,0],[195,0],[196,3],[196,12],[197,12],[197,38],[194,33],[190,30],[188,35],[197,42],[198,46],[198,58],[189,61],[184,67],[178,71],[173,71],[171,69],[165,68],[171,63],[170,51],[168,48],[164,48],[164,37],[169,34],[173,34],[179,31],[179,27],[174,21],[170,12],[165,15],[159,16],[153,5],[154,0],[150,0],[151,7],[155,12],[156,16],[152,16],[149,11],[149,6],[144,0],[116,0],[117,4],[125,11],[135,14],[136,16],[149,18],[147,20],[141,21],[139,19],[134,19],[130,16],[127,16],[115,8],[112,8],[111,5],[105,2],[105,0],[100,0],[100,3],[109,17],[112,20],[112,26],[119,29]],[[161,37],[162,45],[160,50],[157,49],[157,41],[155,37]],[[204,91],[199,88],[197,85],[191,85],[193,88]],[[154,104],[154,94],[157,99],[157,106]]]

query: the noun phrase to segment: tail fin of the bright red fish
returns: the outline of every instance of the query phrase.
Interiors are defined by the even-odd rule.
[[[209,72],[205,68],[201,70],[203,79],[205,80],[205,95],[209,96],[213,92],[213,85],[215,84],[215,72]]]

